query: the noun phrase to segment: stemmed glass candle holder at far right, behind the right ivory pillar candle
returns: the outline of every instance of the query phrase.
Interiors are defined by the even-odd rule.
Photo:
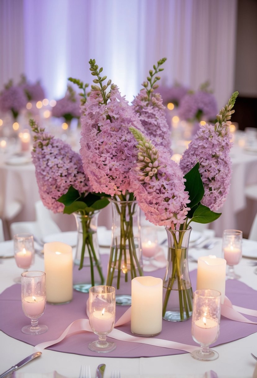
[[[225,230],[222,238],[222,251],[227,262],[226,276],[229,279],[239,279],[235,273],[234,265],[237,265],[242,258],[243,232],[239,230]]]

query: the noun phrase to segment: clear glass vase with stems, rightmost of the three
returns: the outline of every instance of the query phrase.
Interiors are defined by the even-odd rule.
[[[188,243],[192,228],[171,230],[168,236],[168,257],[163,280],[162,317],[181,322],[191,317],[193,311],[193,290],[188,271]]]

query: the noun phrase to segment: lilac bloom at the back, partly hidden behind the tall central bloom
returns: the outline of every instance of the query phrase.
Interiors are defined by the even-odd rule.
[[[161,95],[153,92],[148,100],[146,89],[142,89],[132,101],[132,105],[133,110],[139,115],[145,132],[155,146],[170,150],[171,125],[169,127],[167,124]]]

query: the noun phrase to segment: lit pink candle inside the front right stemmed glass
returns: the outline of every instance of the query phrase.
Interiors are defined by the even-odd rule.
[[[203,317],[194,322],[192,335],[199,344],[210,345],[216,340],[218,329],[217,321]]]

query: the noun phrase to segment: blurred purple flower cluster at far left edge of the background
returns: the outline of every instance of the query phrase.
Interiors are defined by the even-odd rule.
[[[2,112],[13,112],[17,116],[20,110],[26,107],[27,98],[24,91],[18,85],[10,82],[0,95],[0,110]]]

